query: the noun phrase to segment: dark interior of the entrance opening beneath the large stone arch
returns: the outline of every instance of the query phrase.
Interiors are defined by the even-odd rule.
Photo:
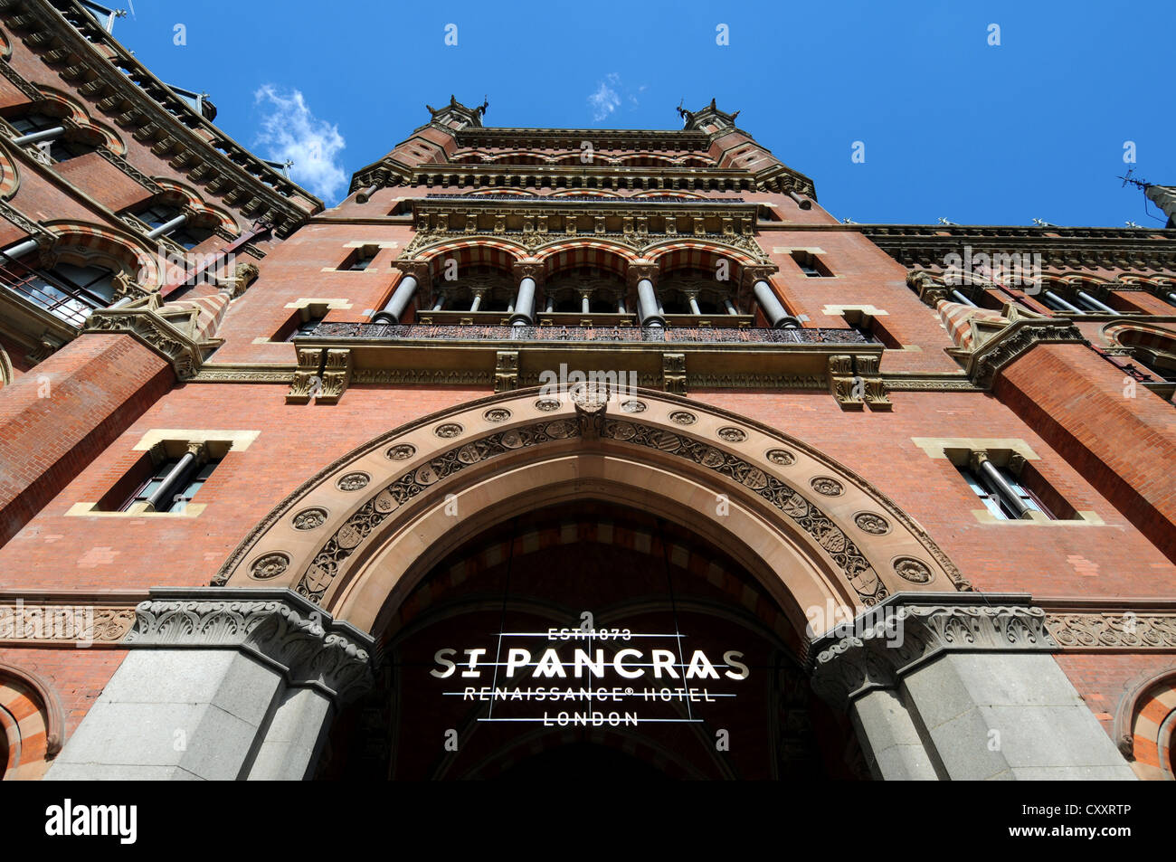
[[[502,522],[381,621],[377,684],[333,723],[321,779],[868,777],[776,602],[647,513]]]

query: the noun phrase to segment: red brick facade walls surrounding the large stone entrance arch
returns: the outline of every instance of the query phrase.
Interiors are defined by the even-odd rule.
[[[58,28],[72,39],[58,15],[73,4],[25,5],[39,15],[19,25],[26,32]],[[55,88],[94,122],[114,128],[101,102],[47,61],[45,44],[31,48],[14,38],[11,18],[0,16],[13,48],[0,78],[0,114],[14,118],[35,103],[31,91]],[[141,101],[152,98],[145,91]],[[118,128],[125,149],[115,155],[133,171],[98,153],[44,166],[12,148],[21,185],[4,201],[5,246],[29,235],[20,226],[28,219],[44,222],[41,233],[69,221],[106,230],[114,245],[149,250],[145,230],[119,219],[167,196],[140,176],[181,183],[209,213],[230,214],[229,236],[214,234],[196,253],[225,248],[252,229],[262,209],[286,221],[233,259],[255,267],[255,279],[234,292],[234,272],[220,268],[220,282],[168,298],[229,292],[222,316],[200,318],[196,328],[187,312],[159,299],[162,275],[140,285],[147,299],[126,306],[122,318],[95,312],[93,320],[108,320],[107,329],[93,322],[69,329],[9,286],[6,301],[24,305],[19,325],[0,323],[0,348],[13,368],[0,387],[0,606],[86,604],[107,595],[126,609],[153,587],[207,586],[275,507],[336,460],[395,428],[534,386],[541,369],[580,361],[586,369],[634,368],[643,388],[676,390],[803,441],[906,513],[973,589],[1029,594],[1061,637],[1110,620],[1108,637],[1060,637],[1056,661],[1112,734],[1132,681],[1176,677],[1176,373],[1164,365],[1176,358],[1176,307],[1155,287],[1176,278],[1176,234],[1097,229],[1114,234],[1100,246],[1102,258],[1073,267],[1057,261],[1082,249],[1089,236],[1081,230],[987,228],[1002,248],[1043,252],[1045,272],[1029,288],[978,281],[961,288],[964,305],[1003,315],[991,330],[977,323],[968,350],[953,339],[942,307],[958,301],[944,283],[942,259],[970,241],[967,228],[842,225],[815,202],[808,178],[781,165],[733,119],[711,105],[688,113],[682,132],[495,129],[454,103],[356,174],[352,194],[325,212],[274,178],[266,198],[249,185],[260,186],[255,179],[234,175],[212,147],[201,158],[223,181],[209,182],[207,171],[203,181],[193,179],[183,166],[194,156],[129,121]],[[595,141],[587,167],[581,139]],[[550,252],[557,240],[572,250]],[[670,246],[675,250],[666,250]],[[367,267],[346,269],[365,247],[375,252]],[[1160,262],[1132,266],[1141,248]],[[443,275],[450,258],[461,260],[453,286]],[[667,308],[669,335],[656,350],[646,342],[614,349],[607,335],[584,335],[641,322],[639,267],[652,267],[661,289],[687,269],[696,274],[727,259],[746,275],[729,293],[737,325],[723,320],[722,308]],[[827,274],[806,273],[814,260]],[[460,272],[482,265],[496,273],[487,278],[512,292],[523,270],[510,267],[534,265],[539,295],[530,322],[541,330],[547,314],[548,323],[572,334],[554,347],[494,335],[519,309],[490,308],[493,290],[476,312],[435,309],[443,289],[450,298],[473,295],[461,293]],[[546,287],[589,265],[615,275],[609,283],[619,290],[628,273],[627,320],[608,316],[620,316],[615,308],[544,310]],[[362,329],[414,273],[421,283],[399,322],[455,329],[433,330],[429,343],[407,330]],[[753,290],[761,280],[809,341],[771,340],[777,336],[768,333],[788,329],[770,328],[769,309]],[[1055,294],[1096,285],[1117,314],[1084,307],[1089,313],[1075,325],[1075,315],[1044,302],[1042,285],[1054,285]],[[590,301],[603,302],[603,295]],[[670,301],[669,287],[662,299]],[[340,326],[288,341],[308,316]],[[1144,327],[1151,340],[1116,335],[1114,325],[1124,322]],[[1018,340],[1017,333],[1047,333],[1048,326],[1055,327],[1049,334]],[[700,335],[670,343],[677,330]],[[708,341],[716,332],[743,332],[754,349],[716,346]],[[332,382],[332,360],[315,350],[343,356],[349,376]],[[503,359],[510,352],[519,353],[517,366]],[[676,360],[667,356],[677,353],[684,356],[681,374],[668,370]],[[844,372],[837,372],[841,354]],[[862,386],[870,393],[864,401]],[[228,448],[193,500],[199,510],[99,507],[120,482],[131,487],[135,470],[205,440]],[[1008,469],[1022,459],[1020,477],[1036,497],[1074,516],[991,517],[958,469],[974,450]],[[1124,614],[1137,621],[1140,637],[1134,629],[1115,634]],[[127,653],[120,639],[129,616],[123,622],[115,636],[85,649],[76,639],[0,633],[0,662],[52,687],[68,736]],[[1125,754],[1134,756],[1130,744]],[[1162,771],[1158,755],[1148,756]]]

